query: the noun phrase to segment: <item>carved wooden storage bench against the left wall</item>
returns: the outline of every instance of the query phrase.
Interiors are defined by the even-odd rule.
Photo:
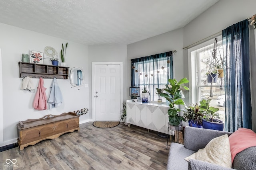
[[[55,139],[64,133],[79,130],[79,115],[69,112],[19,121],[17,129],[18,145],[20,150],[23,150],[28,145],[35,145],[45,139]]]

